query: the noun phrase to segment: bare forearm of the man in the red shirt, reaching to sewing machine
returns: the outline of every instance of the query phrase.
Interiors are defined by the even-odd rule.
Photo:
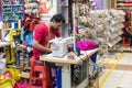
[[[33,40],[33,47],[40,50],[40,51],[45,51],[47,53],[51,52],[51,50],[48,47],[44,47],[43,45],[41,45],[37,41]]]

